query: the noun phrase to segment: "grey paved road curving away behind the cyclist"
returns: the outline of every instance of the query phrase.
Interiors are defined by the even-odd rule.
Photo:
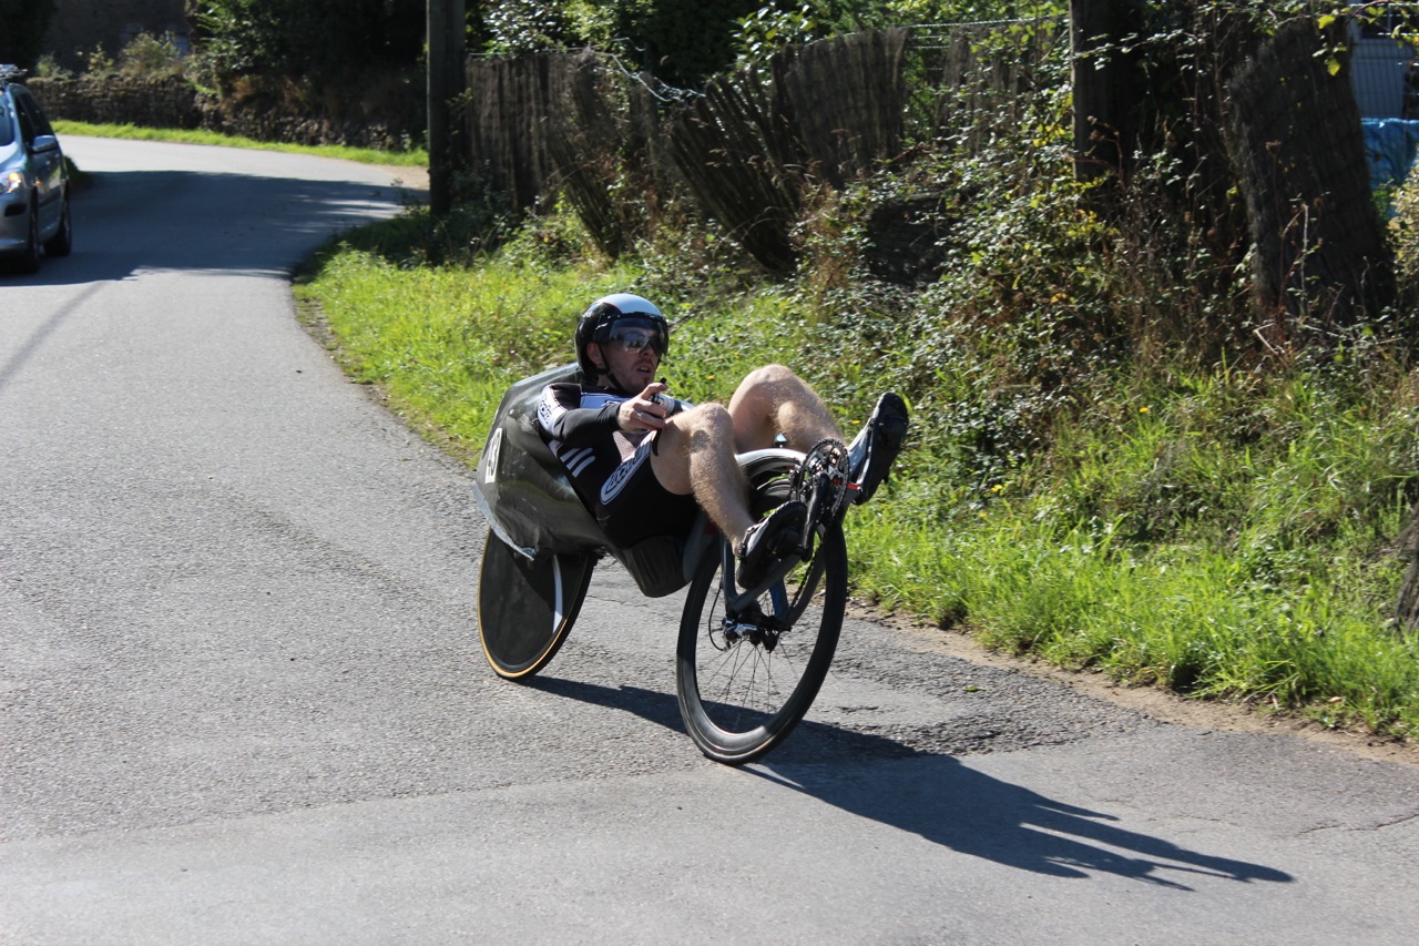
[[[495,679],[467,472],[292,315],[387,176],[67,143],[75,254],[0,277],[0,942],[1413,942],[1419,768],[854,622],[731,770],[610,568]]]

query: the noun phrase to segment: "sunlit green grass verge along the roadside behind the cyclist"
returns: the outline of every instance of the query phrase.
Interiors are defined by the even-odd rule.
[[[664,273],[569,254],[546,229],[430,266],[410,254],[426,217],[380,226],[325,254],[299,294],[352,374],[465,457],[511,381],[570,361],[586,303],[614,290],[666,298]],[[694,401],[727,398],[746,369],[782,361],[851,435],[905,371],[893,344],[864,347],[863,320],[790,286],[707,284],[667,308],[666,372]],[[1419,733],[1416,642],[1388,621],[1402,575],[1388,543],[1419,473],[1406,372],[1100,371],[1047,449],[998,462],[982,460],[979,435],[1009,429],[988,416],[999,392],[968,403],[982,389],[975,361],[935,371],[914,391],[900,474],[850,516],[860,594],[1120,680]]]

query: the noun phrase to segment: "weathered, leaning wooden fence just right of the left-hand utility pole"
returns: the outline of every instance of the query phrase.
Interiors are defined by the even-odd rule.
[[[979,107],[990,87],[990,104],[1005,105],[996,116],[1009,121],[1056,33],[1043,24],[1046,38],[1023,61],[1017,48],[982,53],[978,31],[932,37],[918,71],[946,78],[951,95],[915,108],[905,78],[911,37],[900,28],[790,48],[698,92],[590,53],[471,60],[467,158],[518,209],[565,196],[613,256],[653,223],[657,206],[688,195],[759,263],[788,271],[805,193],[841,189],[893,161],[912,112],[928,138],[979,128],[962,109]]]

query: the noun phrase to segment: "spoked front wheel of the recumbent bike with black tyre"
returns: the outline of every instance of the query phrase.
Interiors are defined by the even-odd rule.
[[[710,558],[685,598],[675,682],[690,737],[738,766],[783,741],[813,705],[843,629],[847,550],[841,526],[819,526],[812,557],[738,615],[724,588],[734,577]]]

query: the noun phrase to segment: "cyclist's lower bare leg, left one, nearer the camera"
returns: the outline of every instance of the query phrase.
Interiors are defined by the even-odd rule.
[[[753,526],[749,487],[734,456],[734,422],[718,403],[702,403],[670,418],[656,435],[650,466],[671,493],[695,501],[738,547]]]

